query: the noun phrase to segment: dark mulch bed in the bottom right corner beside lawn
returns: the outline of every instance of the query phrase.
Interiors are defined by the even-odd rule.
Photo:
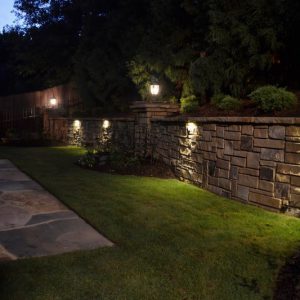
[[[280,270],[273,299],[300,299],[300,252],[292,256]]]

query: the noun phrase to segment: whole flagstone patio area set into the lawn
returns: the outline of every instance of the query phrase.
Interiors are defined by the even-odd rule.
[[[112,245],[10,161],[0,160],[0,262]]]

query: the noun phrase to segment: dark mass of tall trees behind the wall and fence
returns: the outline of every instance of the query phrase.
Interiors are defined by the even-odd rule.
[[[1,94],[75,81],[87,106],[299,89],[300,4],[292,0],[16,0],[24,28],[0,34]]]

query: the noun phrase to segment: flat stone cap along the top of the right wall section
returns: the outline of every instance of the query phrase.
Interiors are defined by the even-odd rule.
[[[300,125],[300,117],[154,117],[153,122],[198,122]]]

